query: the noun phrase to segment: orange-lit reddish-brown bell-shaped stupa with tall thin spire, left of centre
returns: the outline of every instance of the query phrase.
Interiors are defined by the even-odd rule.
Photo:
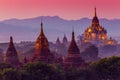
[[[43,23],[41,22],[41,31],[35,43],[35,53],[32,56],[31,61],[41,61],[51,63],[53,55],[49,49],[49,42],[43,32]]]

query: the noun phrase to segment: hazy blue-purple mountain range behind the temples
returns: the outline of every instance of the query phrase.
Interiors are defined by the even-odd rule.
[[[64,34],[71,39],[72,29],[76,38],[84,33],[91,25],[91,19],[81,18],[79,20],[65,20],[58,16],[39,16],[28,19],[8,19],[0,21],[0,42],[9,41],[13,36],[15,41],[35,41],[40,33],[41,18],[44,33],[49,41],[56,41],[57,37],[62,40]],[[99,19],[100,25],[107,30],[108,36],[120,41],[120,19]]]

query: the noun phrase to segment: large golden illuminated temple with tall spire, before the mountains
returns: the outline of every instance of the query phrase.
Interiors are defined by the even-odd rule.
[[[107,40],[107,31],[99,24],[99,19],[97,17],[96,8],[94,17],[92,19],[92,24],[89,26],[85,32],[85,42],[91,42],[93,44],[105,43]]]

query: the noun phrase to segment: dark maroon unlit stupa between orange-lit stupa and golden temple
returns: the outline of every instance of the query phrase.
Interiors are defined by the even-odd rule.
[[[79,67],[84,64],[80,56],[79,48],[75,42],[74,32],[72,32],[72,40],[68,48],[68,53],[66,58],[63,60],[65,67]]]

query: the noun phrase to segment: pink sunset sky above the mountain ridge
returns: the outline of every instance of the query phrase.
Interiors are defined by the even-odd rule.
[[[0,20],[60,16],[64,19],[93,17],[120,18],[120,0],[0,0]]]

